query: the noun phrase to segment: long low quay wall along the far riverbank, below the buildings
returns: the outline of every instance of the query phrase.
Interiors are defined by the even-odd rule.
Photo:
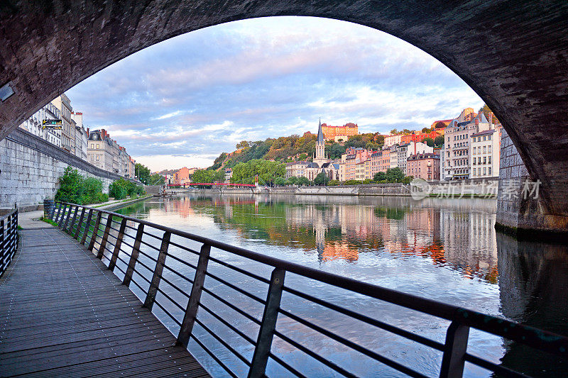
[[[439,198],[496,198],[498,178],[469,179],[452,182],[427,182],[419,194]],[[212,194],[293,194],[313,196],[413,196],[412,184],[361,184],[337,185],[333,187],[251,187],[212,189],[174,189],[173,193]]]

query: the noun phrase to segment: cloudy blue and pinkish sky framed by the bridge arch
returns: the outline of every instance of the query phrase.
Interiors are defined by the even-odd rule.
[[[136,52],[66,92],[92,130],[153,171],[208,167],[241,140],[322,123],[422,129],[479,96],[434,57],[345,21],[271,17],[195,30]]]

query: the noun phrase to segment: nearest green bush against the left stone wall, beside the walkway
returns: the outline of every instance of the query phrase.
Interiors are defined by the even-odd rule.
[[[56,201],[69,202],[71,204],[88,205],[98,202],[106,202],[107,194],[102,193],[102,182],[99,179],[85,179],[77,169],[65,168],[63,176],[59,178],[60,188],[55,194]]]

